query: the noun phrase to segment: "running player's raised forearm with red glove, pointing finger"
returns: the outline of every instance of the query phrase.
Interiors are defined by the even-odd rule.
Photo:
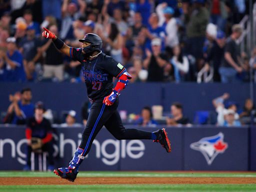
[[[70,53],[70,46],[67,46],[60,38],[58,38],[53,32],[49,31],[47,28],[44,28],[42,32],[42,36],[45,38],[50,38],[57,49],[59,49],[62,53],[66,54],[67,56],[71,56]]]

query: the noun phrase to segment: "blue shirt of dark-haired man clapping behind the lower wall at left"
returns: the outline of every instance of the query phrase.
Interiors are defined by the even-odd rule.
[[[20,108],[22,115],[21,117],[19,117],[16,114],[14,114],[12,124],[20,123],[20,121],[22,121],[21,124],[24,124],[27,118],[30,118],[34,115],[34,104],[21,104],[21,101],[19,101],[18,107]]]

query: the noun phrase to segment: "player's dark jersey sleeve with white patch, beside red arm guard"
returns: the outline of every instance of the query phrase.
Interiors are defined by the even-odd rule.
[[[107,58],[104,68],[110,75],[116,78],[120,77],[125,71],[125,67],[111,57]]]

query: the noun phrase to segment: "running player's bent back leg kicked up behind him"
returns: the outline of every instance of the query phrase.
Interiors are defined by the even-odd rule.
[[[135,128],[125,128],[121,122],[121,118],[117,110],[113,112],[104,125],[107,130],[118,140],[152,139],[154,142],[160,142],[167,152],[171,151],[170,141],[164,128],[154,132],[143,131]]]

